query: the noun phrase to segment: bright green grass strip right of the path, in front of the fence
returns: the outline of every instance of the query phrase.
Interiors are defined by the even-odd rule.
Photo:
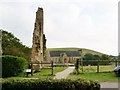
[[[120,77],[117,77],[115,73],[109,72],[109,73],[85,73],[85,74],[79,74],[74,75],[71,74],[68,77],[69,79],[78,79],[78,78],[84,78],[86,80],[93,80],[98,82],[118,82],[118,79]]]

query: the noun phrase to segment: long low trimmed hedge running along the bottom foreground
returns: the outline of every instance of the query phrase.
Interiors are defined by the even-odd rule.
[[[100,90],[100,84],[83,79],[4,79],[2,90]]]

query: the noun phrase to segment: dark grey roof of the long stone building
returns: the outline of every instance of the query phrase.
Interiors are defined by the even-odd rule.
[[[68,57],[79,57],[79,51],[49,51],[51,57],[60,57],[61,54],[66,54]]]

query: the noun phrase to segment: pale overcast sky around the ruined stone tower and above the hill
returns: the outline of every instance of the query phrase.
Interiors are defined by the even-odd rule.
[[[32,47],[35,14],[44,10],[47,48],[87,48],[118,55],[119,0],[0,0],[0,29]]]

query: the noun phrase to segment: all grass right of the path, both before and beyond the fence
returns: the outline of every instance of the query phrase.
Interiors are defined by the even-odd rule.
[[[100,66],[100,73],[97,73],[97,66],[83,66],[83,73],[80,67],[81,74],[76,75],[75,70],[69,75],[70,79],[84,78],[98,82],[118,82],[120,77],[117,77],[113,71],[115,66],[104,65]]]

